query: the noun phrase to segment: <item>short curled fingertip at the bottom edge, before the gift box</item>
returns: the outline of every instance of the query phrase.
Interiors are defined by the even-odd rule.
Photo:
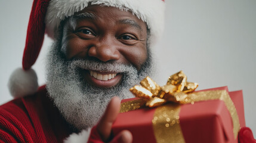
[[[132,142],[132,134],[129,130],[123,130],[115,138],[112,139],[110,143],[131,143]]]

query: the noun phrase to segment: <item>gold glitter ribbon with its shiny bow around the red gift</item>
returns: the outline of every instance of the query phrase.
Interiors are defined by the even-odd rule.
[[[225,90],[193,92],[198,87],[197,83],[187,82],[187,77],[180,71],[169,77],[165,86],[160,87],[150,77],[141,82],[142,86],[134,86],[130,91],[139,97],[138,100],[128,101],[121,104],[121,113],[137,110],[141,107],[156,107],[152,125],[155,138],[158,143],[185,142],[180,127],[180,104],[194,104],[199,101],[222,100],[224,101],[233,121],[233,133],[236,137],[240,129],[238,113],[229,94]],[[193,92],[188,94],[189,92]]]

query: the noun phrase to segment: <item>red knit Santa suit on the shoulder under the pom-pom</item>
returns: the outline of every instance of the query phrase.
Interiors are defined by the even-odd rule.
[[[73,132],[45,86],[0,106],[0,142],[63,142]]]

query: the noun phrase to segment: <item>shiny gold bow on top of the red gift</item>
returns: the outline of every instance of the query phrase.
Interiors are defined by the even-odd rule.
[[[187,103],[187,93],[195,91],[198,83],[187,82],[187,76],[180,71],[169,77],[165,86],[159,86],[149,76],[141,80],[140,85],[129,89],[135,97],[146,101],[146,106],[156,107],[167,101],[179,104]]]

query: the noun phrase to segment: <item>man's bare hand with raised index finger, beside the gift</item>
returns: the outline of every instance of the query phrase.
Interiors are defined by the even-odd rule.
[[[110,136],[113,122],[115,122],[120,110],[120,105],[121,102],[118,97],[113,97],[112,100],[110,100],[105,113],[98,122],[98,125],[92,128],[91,136],[88,142],[132,142],[132,134],[128,130],[122,130],[122,132],[113,138]],[[102,141],[100,141],[98,138],[100,138]]]

